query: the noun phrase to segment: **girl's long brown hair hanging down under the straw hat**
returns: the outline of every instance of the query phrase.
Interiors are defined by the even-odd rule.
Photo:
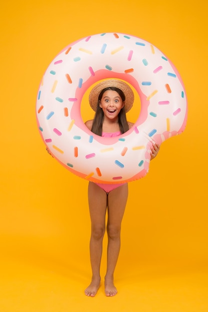
[[[104,114],[103,114],[103,110],[102,108],[100,108],[100,100],[102,99],[103,93],[107,90],[112,90],[112,91],[116,91],[122,101],[125,101],[125,94],[123,93],[122,90],[120,90],[119,88],[116,87],[108,87],[103,89],[98,97],[98,101],[97,101],[97,108],[96,108],[96,112],[95,112],[95,117],[92,123],[92,129],[91,131],[93,133],[95,133],[98,136],[102,136],[102,129],[103,129],[103,119],[104,119]],[[121,133],[125,133],[129,130],[129,125],[126,119],[126,113],[125,113],[125,108],[123,107],[119,114],[118,114],[118,123],[119,123],[119,129],[121,131]]]

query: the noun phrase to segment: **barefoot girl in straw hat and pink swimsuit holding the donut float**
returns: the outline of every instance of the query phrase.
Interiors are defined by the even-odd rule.
[[[89,103],[96,112],[94,120],[85,123],[93,133],[102,137],[116,137],[128,131],[134,124],[127,122],[126,113],[132,108],[134,93],[120,80],[105,80],[90,92]],[[159,151],[153,144],[151,159]],[[105,230],[108,235],[107,271],[105,275],[105,294],[115,296],[114,270],[120,251],[121,222],[128,197],[128,184],[98,184],[89,182],[88,201],[91,218],[90,261],[92,280],[85,295],[94,297],[100,287],[100,263],[102,242]],[[105,224],[108,211],[107,226]]]

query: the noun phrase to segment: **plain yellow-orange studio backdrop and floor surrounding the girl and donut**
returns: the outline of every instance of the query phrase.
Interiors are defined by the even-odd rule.
[[[1,3],[0,311],[208,311],[207,15],[206,0]],[[185,132],[163,143],[145,178],[129,183],[120,293],[107,299],[101,287],[89,299],[88,183],[46,153],[35,102],[52,59],[102,32],[162,50],[182,76],[189,111]],[[104,248],[102,278],[105,256]]]

